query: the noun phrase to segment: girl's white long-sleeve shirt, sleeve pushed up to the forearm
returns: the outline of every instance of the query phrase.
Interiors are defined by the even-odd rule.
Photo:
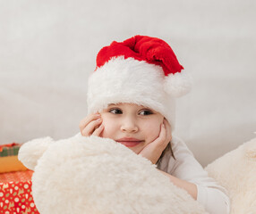
[[[207,171],[196,161],[192,152],[181,139],[173,136],[171,145],[175,159],[170,151],[166,152],[158,163],[158,169],[195,184],[198,191],[197,201],[210,214],[229,213],[230,202],[226,195],[226,189],[218,185],[213,178],[208,177]]]

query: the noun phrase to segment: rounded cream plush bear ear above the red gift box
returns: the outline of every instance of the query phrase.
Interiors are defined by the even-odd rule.
[[[22,144],[19,150],[18,159],[26,168],[34,170],[40,157],[53,142],[54,140],[47,136]]]

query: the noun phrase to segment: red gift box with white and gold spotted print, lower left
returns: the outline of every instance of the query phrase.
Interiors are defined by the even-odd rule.
[[[0,174],[0,213],[38,214],[31,194],[33,172],[17,171]]]

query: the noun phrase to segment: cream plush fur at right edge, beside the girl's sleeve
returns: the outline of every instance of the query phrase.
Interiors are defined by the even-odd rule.
[[[231,214],[256,213],[256,138],[213,161],[206,170],[226,187]]]

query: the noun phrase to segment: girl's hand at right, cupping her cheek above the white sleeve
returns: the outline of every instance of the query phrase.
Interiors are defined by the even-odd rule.
[[[147,144],[139,154],[144,158],[149,159],[153,164],[156,164],[171,139],[171,126],[168,121],[164,119],[158,138]]]

